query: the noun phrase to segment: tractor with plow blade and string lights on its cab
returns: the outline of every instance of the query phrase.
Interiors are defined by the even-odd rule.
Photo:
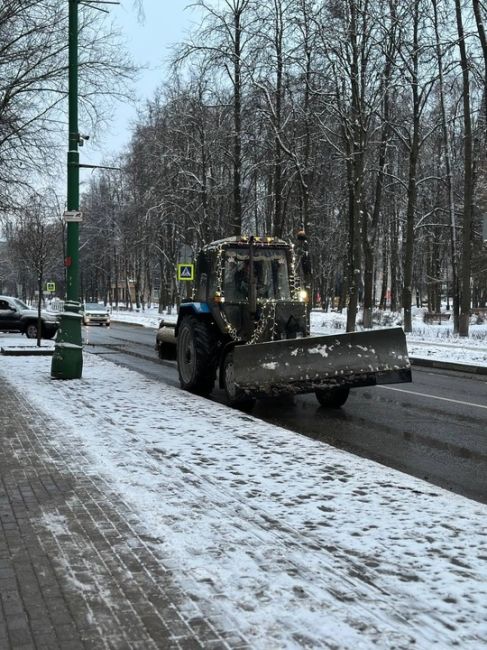
[[[218,378],[242,410],[257,398],[310,392],[336,408],[350,388],[411,381],[400,327],[310,335],[310,275],[303,236],[298,247],[256,236],[204,246],[192,297],[156,338],[161,358],[176,357],[181,388],[208,396]]]

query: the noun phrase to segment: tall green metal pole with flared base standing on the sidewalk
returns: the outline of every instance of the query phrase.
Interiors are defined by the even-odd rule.
[[[66,302],[61,314],[61,324],[56,335],[52,357],[51,377],[54,379],[79,379],[83,370],[81,341],[81,315],[79,295],[79,151],[78,129],[78,3],[69,2],[69,150],[66,258]]]

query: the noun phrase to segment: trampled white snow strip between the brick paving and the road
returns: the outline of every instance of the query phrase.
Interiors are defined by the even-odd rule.
[[[487,646],[487,506],[94,355],[76,381],[50,363],[4,356],[0,373],[253,648]]]

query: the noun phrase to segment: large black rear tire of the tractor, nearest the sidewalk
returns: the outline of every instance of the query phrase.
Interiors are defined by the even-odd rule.
[[[216,341],[209,324],[187,316],[179,326],[177,362],[181,388],[207,396],[216,378]]]

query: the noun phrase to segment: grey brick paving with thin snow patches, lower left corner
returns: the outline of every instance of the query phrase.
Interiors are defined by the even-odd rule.
[[[0,405],[0,650],[249,648],[181,593],[136,514],[2,379]]]

